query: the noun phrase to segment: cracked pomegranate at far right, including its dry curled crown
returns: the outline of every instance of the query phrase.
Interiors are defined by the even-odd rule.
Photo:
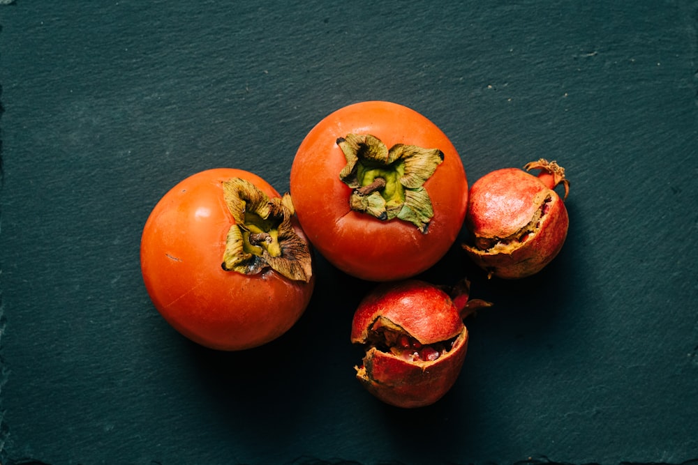
[[[517,279],[539,272],[567,237],[569,218],[563,200],[570,183],[565,169],[542,158],[524,169],[540,173],[498,169],[470,188],[466,227],[471,242],[463,248],[489,277]],[[563,199],[554,190],[560,183],[565,188]]]

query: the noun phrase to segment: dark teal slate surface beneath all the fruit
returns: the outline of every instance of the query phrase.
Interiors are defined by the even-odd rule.
[[[698,461],[695,1],[0,3],[2,464]],[[244,353],[179,337],[140,276],[177,181],[287,190],[306,132],[369,99],[440,125],[471,183],[540,156],[572,181],[540,275],[458,247],[425,273],[496,307],[419,411],[353,379],[370,284],[321,258],[297,326]]]

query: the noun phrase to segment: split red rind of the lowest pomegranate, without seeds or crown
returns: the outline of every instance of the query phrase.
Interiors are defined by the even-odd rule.
[[[371,347],[363,360],[366,376],[357,376],[366,390],[393,406],[413,409],[438,401],[458,379],[468,349],[468,330],[450,297],[418,280],[383,284],[359,304],[352,343],[366,343],[378,317],[389,319],[422,344],[457,337],[450,351],[431,362],[415,363]]]

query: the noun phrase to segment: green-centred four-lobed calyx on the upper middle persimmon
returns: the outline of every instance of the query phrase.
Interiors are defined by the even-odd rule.
[[[339,178],[353,189],[353,211],[385,221],[397,218],[428,232],[433,206],[424,183],[443,162],[442,151],[406,144],[388,150],[370,134],[348,134],[337,145],[347,162]]]

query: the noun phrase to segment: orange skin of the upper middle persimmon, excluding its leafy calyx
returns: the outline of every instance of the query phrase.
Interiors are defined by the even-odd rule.
[[[402,220],[350,210],[352,190],[339,179],[346,158],[336,139],[352,132],[376,136],[388,148],[402,143],[443,151],[443,163],[424,183],[434,210],[427,234]],[[304,231],[327,261],[377,282],[412,277],[436,264],[461,231],[468,206],[466,173],[446,135],[413,109],[380,101],[343,107],[315,125],[293,160],[290,193]]]

